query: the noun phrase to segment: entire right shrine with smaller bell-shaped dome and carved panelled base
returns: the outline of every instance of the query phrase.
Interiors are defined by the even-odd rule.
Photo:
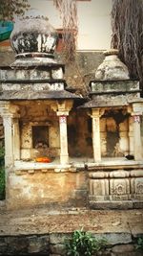
[[[117,53],[105,52],[90,82],[92,100],[83,105],[92,116],[94,163],[87,164],[92,208],[141,207],[143,199],[143,99]]]

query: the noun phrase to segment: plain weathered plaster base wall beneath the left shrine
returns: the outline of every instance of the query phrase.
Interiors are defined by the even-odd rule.
[[[10,173],[7,186],[8,207],[25,208],[38,205],[55,207],[85,207],[87,205],[87,178],[85,172],[54,173],[35,171],[16,175]],[[57,208],[56,208],[57,209]]]

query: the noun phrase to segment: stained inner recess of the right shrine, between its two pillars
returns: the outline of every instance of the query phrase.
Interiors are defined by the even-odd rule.
[[[106,109],[100,120],[101,155],[123,157],[133,151],[133,122],[127,108]]]

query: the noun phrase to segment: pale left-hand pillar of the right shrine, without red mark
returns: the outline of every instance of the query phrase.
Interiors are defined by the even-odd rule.
[[[99,108],[92,108],[92,147],[93,159],[95,162],[101,161],[100,142],[100,111]]]

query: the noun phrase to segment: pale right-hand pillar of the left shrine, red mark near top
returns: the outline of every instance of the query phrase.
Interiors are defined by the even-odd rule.
[[[67,116],[68,112],[57,111],[57,116],[59,116],[59,128],[60,128],[60,163],[69,163],[69,153],[68,153],[68,136],[67,136]]]

